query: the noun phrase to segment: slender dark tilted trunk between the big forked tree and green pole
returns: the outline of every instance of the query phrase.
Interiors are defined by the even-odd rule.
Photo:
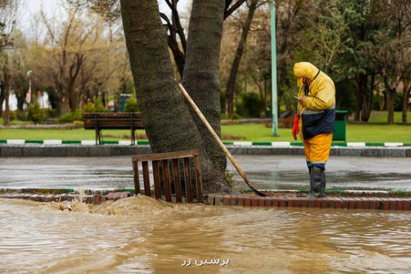
[[[247,19],[245,21],[244,27],[242,28],[241,38],[240,42],[238,43],[236,55],[234,56],[232,68],[229,71],[227,88],[225,90],[225,113],[228,117],[234,114],[234,89],[236,88],[238,68],[240,68],[242,52],[244,51],[245,43],[247,42],[247,36],[250,30],[251,22],[253,21],[254,12],[257,9],[257,2],[257,0],[251,1]]]

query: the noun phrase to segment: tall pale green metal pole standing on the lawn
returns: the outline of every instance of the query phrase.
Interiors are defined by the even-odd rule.
[[[275,44],[275,0],[271,0],[271,118],[273,136],[278,134],[277,49]]]

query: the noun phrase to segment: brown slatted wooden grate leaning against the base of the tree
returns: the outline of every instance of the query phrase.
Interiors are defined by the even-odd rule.
[[[133,156],[132,164],[136,195],[140,193],[139,162],[141,162],[144,195],[151,197],[149,177],[149,162],[151,162],[155,199],[162,199],[162,196],[164,196],[168,202],[203,202],[199,151],[190,150]],[[194,168],[194,171],[191,170],[192,168]],[[173,196],[175,199],[173,199]]]

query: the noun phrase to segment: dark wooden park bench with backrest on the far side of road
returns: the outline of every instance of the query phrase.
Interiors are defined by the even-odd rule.
[[[84,129],[95,129],[96,145],[101,144],[101,129],[131,129],[132,145],[136,145],[136,129],[144,129],[140,112],[85,112]]]

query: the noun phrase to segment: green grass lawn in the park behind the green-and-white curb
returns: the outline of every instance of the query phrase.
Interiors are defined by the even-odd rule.
[[[104,140],[129,140],[129,130],[103,130]],[[257,124],[223,125],[225,141],[294,142],[291,129],[279,129],[271,136],[271,127]],[[144,134],[137,130],[136,134]],[[239,140],[230,136],[240,136]],[[85,129],[0,129],[0,140],[94,140],[94,130]],[[411,142],[410,125],[347,125],[347,142]]]

